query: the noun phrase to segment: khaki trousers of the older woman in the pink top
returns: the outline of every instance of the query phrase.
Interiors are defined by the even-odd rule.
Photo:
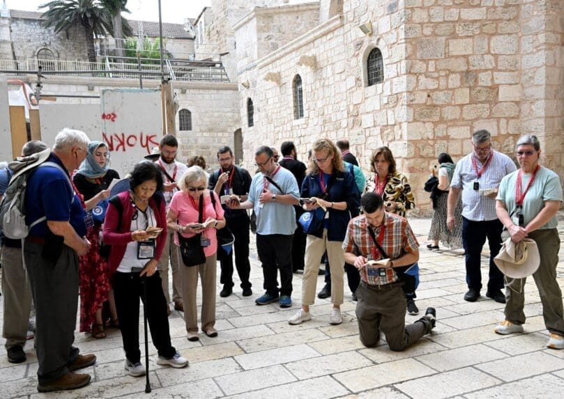
[[[175,246],[176,247],[176,246]],[[186,331],[198,332],[198,310],[196,292],[198,289],[198,274],[201,280],[201,330],[213,327],[215,324],[215,274],[217,253],[206,256],[206,263],[192,267],[181,265],[179,274],[181,279],[182,302],[184,304],[184,321]]]

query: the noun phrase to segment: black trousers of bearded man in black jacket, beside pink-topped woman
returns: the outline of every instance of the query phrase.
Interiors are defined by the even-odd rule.
[[[227,220],[227,227],[235,237],[233,251],[225,252],[218,247],[218,259],[220,260],[221,275],[220,283],[233,287],[233,252],[235,252],[235,267],[241,279],[241,288],[251,288],[249,276],[251,264],[249,262],[249,242],[250,242],[250,222],[248,218],[238,218]]]

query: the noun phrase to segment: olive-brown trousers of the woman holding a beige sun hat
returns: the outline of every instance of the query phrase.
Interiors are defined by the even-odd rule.
[[[556,265],[558,264],[558,249],[560,238],[556,228],[535,230],[528,234],[537,243],[540,253],[540,265],[533,274],[537,285],[540,302],[542,303],[542,317],[544,325],[551,333],[564,336],[564,316],[562,292],[556,281]],[[525,292],[526,279],[507,279],[511,286],[505,287],[505,318],[514,324],[525,322]],[[519,292],[521,291],[521,292]]]

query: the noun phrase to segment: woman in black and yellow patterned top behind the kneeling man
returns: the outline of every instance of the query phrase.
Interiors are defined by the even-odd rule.
[[[406,212],[415,208],[416,203],[407,178],[396,170],[394,155],[390,148],[383,146],[372,152],[370,170],[374,175],[367,180],[363,194],[372,192],[379,194],[384,201],[386,212],[406,217]],[[412,267],[411,272],[406,274],[409,274],[406,279],[410,279],[410,283],[406,281],[403,286],[407,311],[410,315],[417,315],[419,309],[414,299],[417,297],[415,291],[419,285],[419,266]]]

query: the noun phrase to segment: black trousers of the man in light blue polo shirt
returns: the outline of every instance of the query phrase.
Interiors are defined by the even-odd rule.
[[[292,251],[293,235],[257,234],[257,252],[262,263],[264,289],[269,295],[291,295],[292,293]],[[280,290],[278,289],[277,268],[280,268]]]

